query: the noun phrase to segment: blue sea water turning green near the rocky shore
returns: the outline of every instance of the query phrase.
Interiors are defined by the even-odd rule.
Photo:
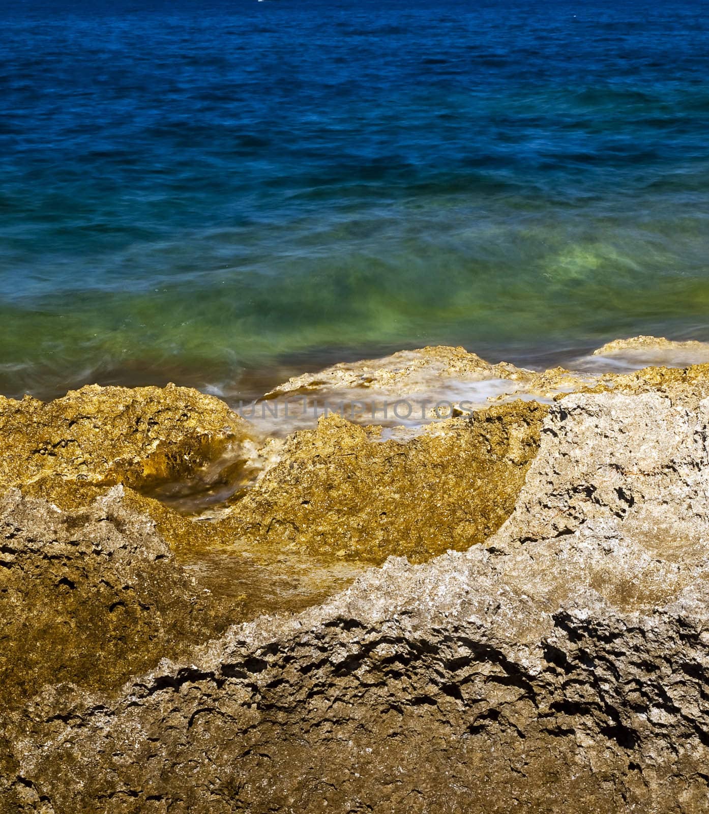
[[[8,2],[0,392],[709,339],[707,12]]]

